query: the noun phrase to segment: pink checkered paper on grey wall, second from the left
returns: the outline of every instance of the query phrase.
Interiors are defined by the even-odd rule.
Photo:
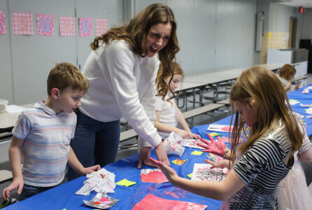
[[[34,35],[31,13],[12,13],[14,35]]]

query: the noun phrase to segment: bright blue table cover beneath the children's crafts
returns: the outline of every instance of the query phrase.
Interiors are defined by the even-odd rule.
[[[305,87],[304,87],[305,88]],[[307,118],[311,116],[306,113],[307,107],[300,106],[300,104],[312,104],[312,91],[309,94],[303,94],[301,88],[297,91],[290,92],[288,94],[289,99],[298,100],[300,103],[292,105],[292,109],[295,112],[304,116],[305,123],[307,124],[307,134],[312,135],[312,118]],[[231,116],[219,120],[213,124],[219,125],[229,125]],[[192,132],[195,134],[200,134],[202,138],[208,139],[206,137],[207,128],[209,125],[195,126],[192,128]],[[211,132],[209,132],[211,133]],[[228,137],[228,132],[217,132],[225,137]],[[171,167],[178,172],[179,176],[190,179],[187,174],[191,174],[194,163],[204,163],[204,158],[206,158],[206,153],[202,155],[192,155],[193,151],[200,151],[195,148],[185,147],[185,152],[182,157],[178,155],[169,155],[169,160],[186,160],[184,165],[175,165],[171,163]],[[156,158],[155,151],[152,150],[151,157]],[[142,183],[141,182],[141,170],[136,168],[138,164],[139,154],[132,155],[129,158],[124,158],[118,162],[111,163],[104,167],[108,172],[113,172],[115,174],[115,182],[121,181],[122,179],[127,179],[129,181],[135,181],[134,186],[116,186],[115,193],[108,193],[108,196],[120,200],[111,209],[132,209],[135,204],[140,202],[143,197],[152,193],[157,197],[162,197],[167,200],[180,200],[185,202],[195,202],[198,204],[207,205],[207,209],[219,209],[222,202],[217,200],[212,200],[206,197],[201,197],[193,193],[188,193],[180,188],[173,187],[170,183]],[[150,167],[142,167],[142,169],[147,169]],[[95,195],[95,191],[92,191],[90,195],[76,195],[75,193],[83,186],[83,181],[85,181],[85,176],[81,176],[78,179],[62,184],[43,193],[30,197],[22,202],[17,202],[4,209],[94,209],[92,207],[87,207],[83,200],[91,200]],[[153,206],[151,205],[151,209]]]

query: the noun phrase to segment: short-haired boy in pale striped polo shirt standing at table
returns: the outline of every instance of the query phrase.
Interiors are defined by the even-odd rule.
[[[11,190],[17,189],[19,199],[24,200],[59,185],[67,162],[81,175],[100,169],[99,165],[83,167],[69,146],[76,128],[73,111],[88,86],[87,78],[72,64],[51,69],[48,101],[23,111],[13,128],[8,150],[13,182],[3,190],[3,200],[10,197]]]

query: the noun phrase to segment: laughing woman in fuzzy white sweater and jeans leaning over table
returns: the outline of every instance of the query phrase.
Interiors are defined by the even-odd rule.
[[[89,90],[81,99],[78,124],[71,147],[85,166],[104,167],[115,162],[120,139],[120,118],[125,117],[141,141],[139,165],[153,165],[148,158],[153,146],[157,158],[169,165],[155,120],[155,78],[159,61],[164,78],[172,76],[171,61],[178,52],[176,20],[172,10],[155,3],[138,13],[123,27],[115,27],[94,39],[83,74]],[[67,179],[78,174],[69,169]]]

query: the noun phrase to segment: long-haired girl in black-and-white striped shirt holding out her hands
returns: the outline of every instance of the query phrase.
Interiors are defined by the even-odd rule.
[[[190,181],[162,163],[159,166],[173,186],[227,200],[222,208],[276,209],[278,183],[292,168],[303,139],[286,92],[274,73],[254,66],[236,80],[230,101],[236,113],[233,144],[231,151],[222,147],[218,153],[231,161],[232,170],[222,182]],[[239,144],[242,132],[246,141]]]

